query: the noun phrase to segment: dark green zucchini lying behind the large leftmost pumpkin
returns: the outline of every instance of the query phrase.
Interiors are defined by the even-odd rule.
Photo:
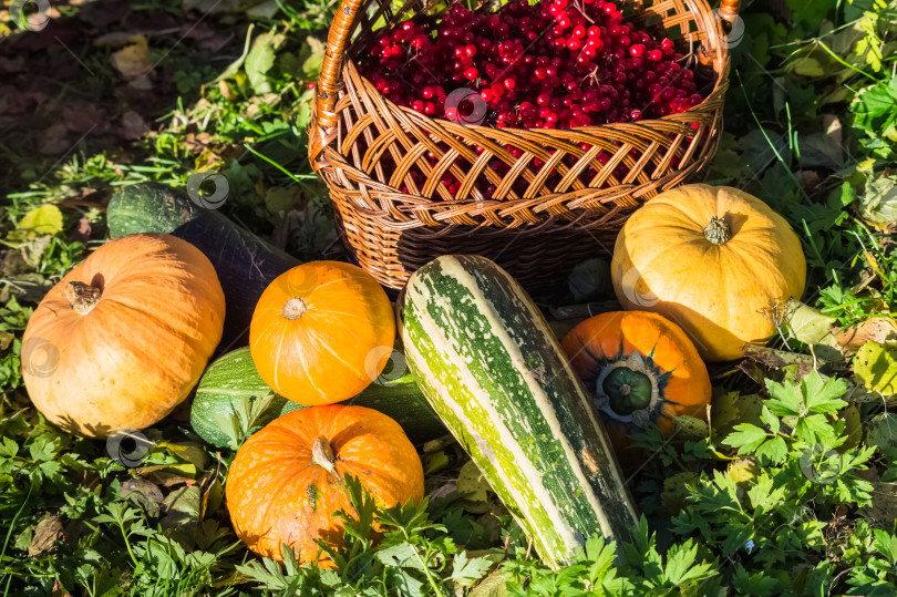
[[[106,208],[106,222],[112,238],[166,233],[208,257],[225,294],[223,351],[248,343],[249,322],[261,292],[271,280],[301,263],[223,214],[195,204],[183,191],[156,183],[116,189]]]

